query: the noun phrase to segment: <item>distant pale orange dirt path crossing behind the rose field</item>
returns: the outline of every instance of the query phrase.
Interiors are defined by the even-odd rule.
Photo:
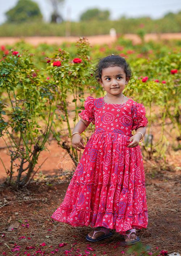
[[[134,44],[139,44],[140,38],[136,34],[125,34],[125,39],[130,39]],[[79,40],[79,37],[58,37],[58,36],[32,36],[32,37],[0,37],[0,45],[9,44],[12,45],[19,41],[20,39],[24,39],[27,43],[32,45],[38,45],[40,43],[47,44],[62,44],[63,42],[75,42]],[[111,37],[110,35],[98,35],[98,36],[87,36],[87,39],[90,42],[90,45],[95,44],[109,44],[114,42],[117,38]],[[151,33],[145,35],[145,41],[159,41],[161,39],[179,39],[181,40],[181,33]]]

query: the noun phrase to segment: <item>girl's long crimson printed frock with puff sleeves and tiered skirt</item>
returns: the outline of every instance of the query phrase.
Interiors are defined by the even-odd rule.
[[[140,145],[127,147],[132,130],[147,126],[146,109],[132,99],[122,104],[121,111],[120,106],[105,103],[103,97],[85,99],[79,116],[91,121],[95,130],[52,219],[73,227],[106,227],[120,234],[147,227],[142,152]]]

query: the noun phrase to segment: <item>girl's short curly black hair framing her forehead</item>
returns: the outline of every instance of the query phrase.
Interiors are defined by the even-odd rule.
[[[121,67],[126,77],[132,76],[130,65],[126,62],[125,58],[119,56],[119,55],[109,55],[107,57],[104,57],[100,59],[96,65],[96,70],[94,71],[96,80],[100,80],[102,76],[102,69],[109,68],[109,67],[115,67],[119,66]]]

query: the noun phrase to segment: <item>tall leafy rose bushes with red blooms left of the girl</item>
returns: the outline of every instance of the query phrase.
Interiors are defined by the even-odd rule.
[[[22,42],[19,45],[22,47]],[[20,53],[12,50],[0,61],[0,136],[6,144],[9,140],[12,145],[12,149],[7,146],[11,158],[10,168],[6,170],[9,184],[19,188],[30,182],[38,171],[34,168],[50,134],[62,143],[72,158],[77,157],[75,149],[60,139],[65,133],[63,122],[67,123],[71,135],[67,97],[73,95],[75,122],[80,110],[77,99],[80,98],[83,104],[84,86],[90,79],[89,43],[80,38],[76,47],[80,63],[70,59],[69,53],[62,49],[49,57],[50,61],[41,70],[35,68],[33,55],[28,50],[21,49]],[[51,79],[46,79],[47,74]],[[14,182],[16,159],[20,165]],[[28,167],[25,167],[27,162]],[[27,173],[22,177],[25,171]]]

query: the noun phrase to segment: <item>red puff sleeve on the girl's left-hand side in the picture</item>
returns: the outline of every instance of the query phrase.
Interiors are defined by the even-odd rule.
[[[92,96],[88,96],[85,99],[84,102],[84,109],[78,115],[89,122],[92,122],[95,124],[95,119],[94,119],[94,98]]]

